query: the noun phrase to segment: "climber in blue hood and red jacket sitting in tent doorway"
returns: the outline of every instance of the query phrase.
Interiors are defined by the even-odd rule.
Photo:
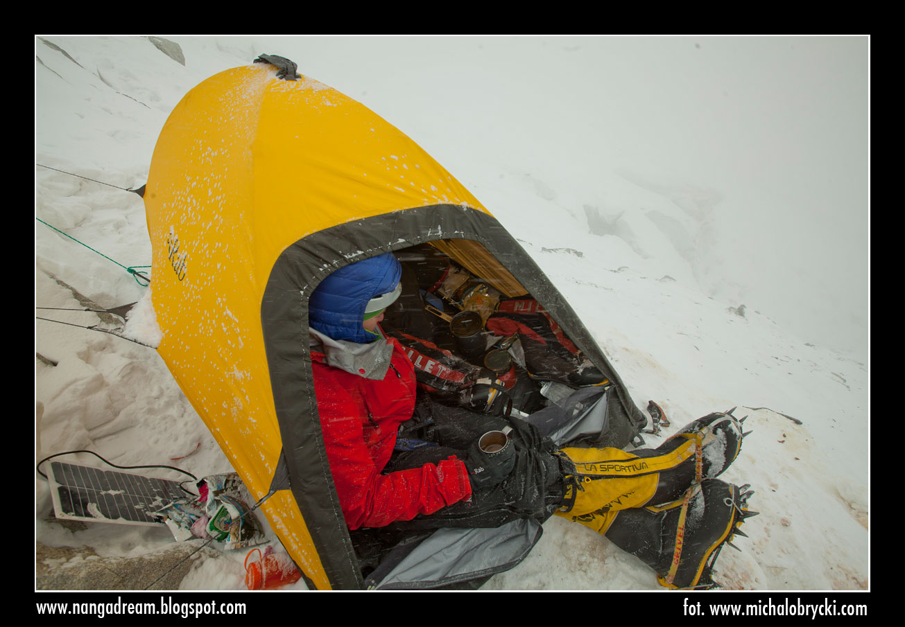
[[[626,452],[557,446],[530,416],[434,402],[418,394],[412,361],[380,325],[401,273],[386,253],[334,271],[310,296],[319,417],[348,528],[499,527],[557,515],[640,557],[663,585],[712,585],[720,547],[753,514],[744,487],[716,479],[738,456],[735,417],[712,413],[656,449]],[[397,446],[411,423],[427,425],[424,445]],[[479,445],[491,431],[508,439]]]

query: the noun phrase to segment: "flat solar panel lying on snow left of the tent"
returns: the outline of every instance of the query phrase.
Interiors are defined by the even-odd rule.
[[[186,498],[177,481],[61,461],[51,462],[48,480],[57,518],[160,525],[152,512]]]

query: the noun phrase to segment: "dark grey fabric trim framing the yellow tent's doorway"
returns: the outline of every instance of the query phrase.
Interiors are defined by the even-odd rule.
[[[481,242],[614,383],[614,394],[607,394],[610,431],[605,440],[588,443],[622,447],[645,423],[575,311],[491,215],[459,204],[432,204],[338,224],[303,237],[283,251],[271,269],[262,298],[262,332],[290,489],[334,589],[357,590],[364,582],[320,431],[308,299],[320,280],[349,263],[443,239]]]

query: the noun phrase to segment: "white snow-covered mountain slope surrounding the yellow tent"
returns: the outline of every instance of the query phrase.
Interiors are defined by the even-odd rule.
[[[183,62],[146,37],[35,39],[36,306],[140,299],[120,266],[150,263],[150,242],[141,199],[123,189],[145,183],[168,113],[217,71],[288,57],[401,128],[500,219],[636,404],[662,405],[664,435],[715,410],[749,414],[724,478],[752,484],[761,515],[740,552],[723,550],[718,581],[868,588],[866,37],[168,39]],[[199,477],[231,470],[153,349],[38,319],[35,351],[36,461],[90,449]],[[67,530],[46,519],[40,477],[35,495],[43,545],[139,556],[173,543],[163,527]],[[197,560],[182,589],[243,589],[244,556]],[[558,518],[485,587],[661,589]]]

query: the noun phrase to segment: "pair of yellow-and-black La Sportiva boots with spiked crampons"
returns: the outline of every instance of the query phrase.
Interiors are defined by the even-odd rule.
[[[562,449],[567,490],[557,516],[641,558],[666,587],[712,587],[719,550],[757,514],[747,509],[748,486],[715,479],[738,457],[742,421],[711,413],[656,449]]]

